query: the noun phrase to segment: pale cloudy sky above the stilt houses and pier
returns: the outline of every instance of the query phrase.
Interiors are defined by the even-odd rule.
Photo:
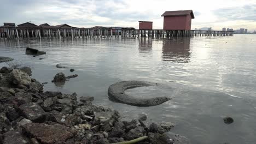
[[[0,26],[3,22],[32,22],[138,28],[138,21],[153,21],[153,29],[162,29],[165,11],[191,9],[195,15],[191,29],[256,31],[256,0],[0,0],[0,5]]]

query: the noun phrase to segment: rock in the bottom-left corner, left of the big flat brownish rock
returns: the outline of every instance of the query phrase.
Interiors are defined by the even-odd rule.
[[[29,141],[19,131],[8,131],[3,134],[3,144],[26,144]]]

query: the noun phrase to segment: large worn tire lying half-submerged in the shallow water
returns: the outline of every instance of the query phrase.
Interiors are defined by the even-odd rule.
[[[153,83],[144,82],[144,81],[121,81],[109,86],[108,96],[110,99],[114,101],[118,101],[119,103],[135,105],[135,106],[155,106],[155,105],[165,103],[166,101],[171,99],[167,97],[143,99],[143,98],[135,98],[125,94],[126,89],[136,88],[136,87],[147,87],[147,86],[154,86],[154,85]]]

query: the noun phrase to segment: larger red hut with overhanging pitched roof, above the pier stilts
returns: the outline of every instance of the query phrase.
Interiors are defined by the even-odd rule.
[[[193,10],[165,11],[164,30],[190,30],[191,19],[195,19]]]

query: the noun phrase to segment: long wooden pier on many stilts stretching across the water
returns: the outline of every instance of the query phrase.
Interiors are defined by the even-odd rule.
[[[232,36],[234,31],[163,30],[134,28],[2,28],[0,40],[5,39],[88,39],[88,38],[172,38]]]

